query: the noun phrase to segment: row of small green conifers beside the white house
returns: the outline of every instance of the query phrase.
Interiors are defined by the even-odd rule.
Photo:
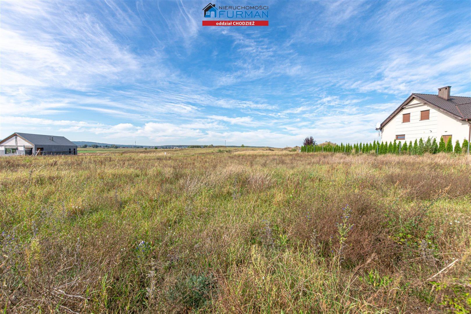
[[[312,137],[310,137],[312,138]],[[310,142],[310,138],[306,137],[304,143],[312,143]],[[309,139],[307,142],[306,140]],[[316,141],[313,141],[315,143]],[[389,144],[373,141],[373,143],[357,143],[357,144],[343,144],[337,145],[335,143],[327,143],[321,145],[302,145],[301,152],[306,153],[317,153],[317,152],[333,152],[333,153],[376,153],[378,155],[381,154],[410,154],[410,155],[422,155],[424,153],[468,153],[468,140],[464,139],[463,144],[460,145],[460,141],[456,140],[455,145],[451,138],[448,138],[447,143],[444,142],[443,137],[440,137],[439,143],[437,143],[437,139],[430,137],[427,140],[423,140],[420,138],[419,140],[415,140],[414,143],[409,141],[401,141],[394,140],[393,142],[389,142]]]

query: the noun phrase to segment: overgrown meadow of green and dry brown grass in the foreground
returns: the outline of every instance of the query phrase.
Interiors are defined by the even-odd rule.
[[[0,159],[8,313],[469,313],[471,158]]]

